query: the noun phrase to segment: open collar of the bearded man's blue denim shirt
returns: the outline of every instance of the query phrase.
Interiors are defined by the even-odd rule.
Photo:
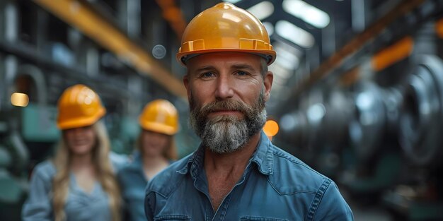
[[[197,169],[203,167],[203,157],[205,156],[204,147],[200,144],[199,148],[193,153],[188,162],[184,165],[182,169],[177,172],[180,174],[187,174],[191,172],[192,176],[196,175]],[[267,138],[263,131],[260,131],[260,141],[257,145],[257,150],[251,157],[251,162],[254,162],[258,166],[258,171],[262,174],[269,175],[272,174],[272,164],[273,164],[273,145]]]

